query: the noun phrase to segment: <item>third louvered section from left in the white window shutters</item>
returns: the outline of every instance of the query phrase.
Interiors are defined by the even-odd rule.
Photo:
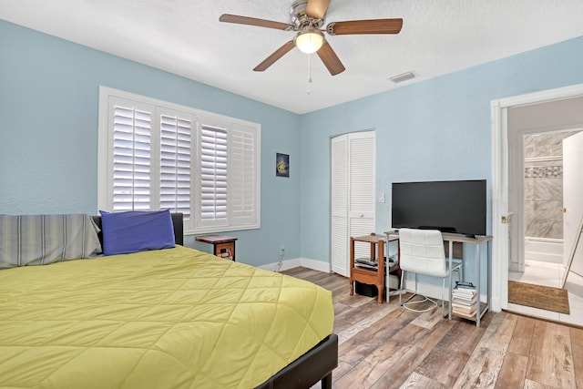
[[[200,128],[200,217],[203,223],[227,223],[227,131]]]

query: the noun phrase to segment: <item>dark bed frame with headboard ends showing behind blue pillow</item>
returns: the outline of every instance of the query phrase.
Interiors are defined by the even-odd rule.
[[[174,224],[174,239],[177,244],[184,245],[184,228],[182,214],[172,213]],[[101,229],[101,216],[93,216],[97,227]],[[99,241],[103,244],[103,236],[99,232]],[[298,359],[285,366],[278,373],[273,374],[258,389],[302,389],[309,388],[318,381],[322,382],[322,389],[332,389],[332,370],[338,366],[338,336],[331,333],[322,342],[304,353]]]

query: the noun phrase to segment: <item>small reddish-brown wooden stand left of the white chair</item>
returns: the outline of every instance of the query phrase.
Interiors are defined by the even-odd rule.
[[[363,241],[370,243],[371,255],[369,259],[373,261],[376,259],[377,268],[366,269],[361,266],[354,265],[354,242]],[[384,295],[384,236],[382,235],[364,235],[360,237],[350,238],[350,295],[354,294],[354,282],[367,283],[369,285],[376,285],[379,292],[378,302],[383,302]]]

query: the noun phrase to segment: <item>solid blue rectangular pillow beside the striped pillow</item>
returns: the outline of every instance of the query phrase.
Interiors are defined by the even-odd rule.
[[[169,210],[99,210],[99,213],[105,255],[171,249],[176,246]]]

